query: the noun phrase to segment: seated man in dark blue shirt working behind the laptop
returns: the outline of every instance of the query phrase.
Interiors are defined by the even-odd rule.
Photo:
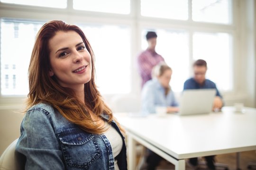
[[[186,89],[216,89],[216,97],[214,98],[213,108],[212,110],[220,110],[223,106],[222,96],[219,93],[215,83],[205,78],[205,74],[207,71],[207,63],[203,59],[198,59],[193,64],[194,77],[188,79],[184,83],[184,90]],[[214,156],[206,156],[207,166],[210,170],[215,170],[214,165]],[[189,159],[189,163],[192,166],[198,165],[197,158]]]

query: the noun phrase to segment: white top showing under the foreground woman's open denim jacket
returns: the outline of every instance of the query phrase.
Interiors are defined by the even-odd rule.
[[[109,127],[109,129],[104,133],[104,135],[110,141],[113,156],[114,158],[116,158],[116,156],[121,152],[121,149],[123,147],[122,137],[119,135],[119,133],[114,127],[110,126],[110,124],[105,123],[105,126]],[[115,160],[115,170],[119,170],[117,160],[116,159],[114,160]]]

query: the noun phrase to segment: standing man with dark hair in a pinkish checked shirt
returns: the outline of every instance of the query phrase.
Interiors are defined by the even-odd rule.
[[[142,87],[148,81],[151,80],[152,68],[160,61],[165,59],[155,52],[157,35],[155,32],[149,31],[146,34],[146,41],[148,47],[146,51],[139,54],[137,58],[139,74],[142,78]]]

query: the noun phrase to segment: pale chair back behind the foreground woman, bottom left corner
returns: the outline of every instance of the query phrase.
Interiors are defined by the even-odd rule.
[[[18,156],[15,147],[18,139],[13,141],[0,157],[0,170],[24,170],[25,160]]]

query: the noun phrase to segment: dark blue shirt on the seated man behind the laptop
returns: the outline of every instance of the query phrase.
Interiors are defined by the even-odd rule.
[[[216,96],[219,96],[222,98],[222,96],[219,93],[219,90],[217,89],[215,83],[210,81],[209,79],[205,79],[205,82],[203,85],[199,85],[194,78],[190,78],[185,81],[183,90],[186,89],[216,89]]]

